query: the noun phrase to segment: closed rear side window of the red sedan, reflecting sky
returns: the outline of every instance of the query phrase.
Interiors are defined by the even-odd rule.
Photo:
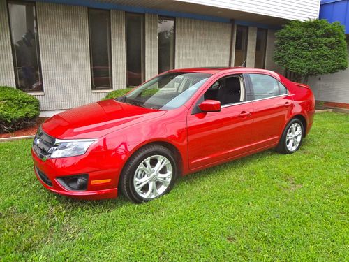
[[[287,89],[270,75],[250,73],[255,99],[267,99],[272,96],[287,94]]]

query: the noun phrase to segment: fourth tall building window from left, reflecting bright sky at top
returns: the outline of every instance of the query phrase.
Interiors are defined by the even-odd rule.
[[[174,18],[158,17],[158,73],[174,68]]]

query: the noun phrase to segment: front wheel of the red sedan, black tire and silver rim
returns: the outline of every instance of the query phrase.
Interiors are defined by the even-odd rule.
[[[135,152],[121,173],[121,192],[134,203],[167,194],[177,180],[177,163],[168,148],[147,145]]]

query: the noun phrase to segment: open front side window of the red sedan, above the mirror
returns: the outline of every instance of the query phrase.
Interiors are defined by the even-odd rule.
[[[220,101],[229,105],[244,101],[244,82],[242,75],[228,76],[216,81],[204,94],[204,100]]]

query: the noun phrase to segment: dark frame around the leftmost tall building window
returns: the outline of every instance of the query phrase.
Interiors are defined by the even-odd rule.
[[[18,73],[17,73],[17,60],[15,57],[17,57],[17,54],[15,52],[15,48],[13,47],[13,32],[12,32],[12,27],[11,27],[11,21],[10,21],[10,8],[9,8],[9,4],[31,4],[32,6],[34,6],[34,10],[35,10],[35,22],[36,22],[36,31],[37,31],[37,36],[38,38],[36,39],[36,59],[38,59],[37,63],[38,63],[38,74],[39,74],[39,80],[41,81],[41,86],[42,89],[38,90],[38,91],[25,91],[19,88],[19,82],[18,82]],[[41,53],[40,53],[40,39],[39,39],[39,34],[40,34],[40,29],[38,26],[38,11],[36,8],[36,1],[20,1],[20,0],[7,0],[6,1],[6,10],[7,10],[7,16],[8,16],[8,29],[10,31],[10,45],[11,45],[11,56],[12,56],[12,60],[13,60],[13,73],[15,75],[15,86],[16,89],[20,89],[24,92],[27,92],[29,94],[38,94],[38,93],[44,93],[45,92],[45,88],[44,88],[44,82],[43,82],[43,70],[42,70],[42,66],[41,66]]]

